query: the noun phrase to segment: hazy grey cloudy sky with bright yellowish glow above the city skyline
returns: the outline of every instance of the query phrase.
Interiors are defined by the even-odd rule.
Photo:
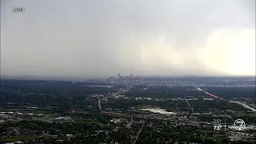
[[[255,75],[255,1],[1,0],[1,75],[118,74]]]

